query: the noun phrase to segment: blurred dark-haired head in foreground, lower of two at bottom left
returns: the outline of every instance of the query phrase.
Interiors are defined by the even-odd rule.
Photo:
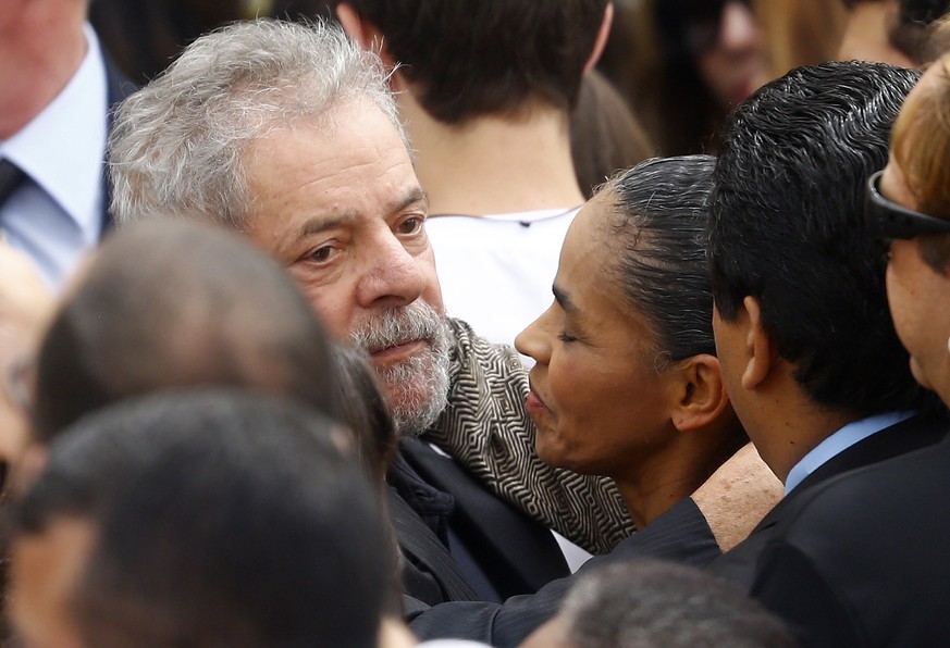
[[[308,408],[240,390],[133,399],[84,419],[15,506],[20,637],[377,646],[395,569],[346,440]]]

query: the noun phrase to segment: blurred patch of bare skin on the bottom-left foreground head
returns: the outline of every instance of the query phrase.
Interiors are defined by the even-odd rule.
[[[10,615],[25,645],[83,645],[71,601],[94,543],[88,522],[60,518],[42,533],[24,535],[13,544]]]

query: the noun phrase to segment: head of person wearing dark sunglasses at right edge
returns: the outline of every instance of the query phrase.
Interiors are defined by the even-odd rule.
[[[872,234],[889,241],[888,299],[911,371],[950,403],[950,54],[895,125],[887,167],[867,184]]]

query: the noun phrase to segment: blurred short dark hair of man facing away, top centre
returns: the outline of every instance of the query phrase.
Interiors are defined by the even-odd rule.
[[[341,0],[331,0],[336,7]],[[577,102],[608,0],[348,0],[446,124]]]

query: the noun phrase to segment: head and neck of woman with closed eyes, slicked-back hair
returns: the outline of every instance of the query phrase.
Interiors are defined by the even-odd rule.
[[[654,159],[568,230],[554,303],[516,340],[547,463],[617,482],[642,528],[745,441],[719,375],[706,276],[714,160]]]

